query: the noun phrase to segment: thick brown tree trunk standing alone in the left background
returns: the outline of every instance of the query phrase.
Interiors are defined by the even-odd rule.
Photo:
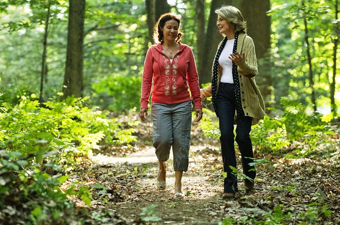
[[[63,92],[82,97],[85,0],[70,0]]]

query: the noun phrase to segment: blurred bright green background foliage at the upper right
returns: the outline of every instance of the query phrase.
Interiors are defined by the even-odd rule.
[[[337,36],[335,27],[335,1],[306,0],[272,1],[272,10],[268,13],[272,19],[272,48],[268,58],[274,74],[273,96],[275,107],[279,107],[281,97],[301,102],[310,107],[311,88],[308,80],[307,48],[305,42],[304,16],[309,29],[309,41],[314,74],[316,104],[323,114],[329,113],[330,82],[333,65],[333,39]],[[338,58],[338,57],[337,57]],[[262,62],[263,63],[263,62]],[[336,67],[336,73],[338,74]],[[339,83],[337,76],[337,83]],[[288,88],[289,87],[289,88]],[[337,90],[338,90],[337,86]],[[339,104],[339,92],[335,96]]]

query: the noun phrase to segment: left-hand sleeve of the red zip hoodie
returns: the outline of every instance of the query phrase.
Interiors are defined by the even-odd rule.
[[[142,94],[141,94],[141,108],[148,108],[149,98],[152,87],[153,78],[153,57],[152,47],[148,49],[148,52],[144,61],[144,69],[142,76]]]

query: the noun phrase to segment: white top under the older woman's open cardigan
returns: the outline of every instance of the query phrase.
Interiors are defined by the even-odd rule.
[[[232,75],[232,61],[229,59],[230,54],[233,52],[235,39],[228,40],[221,55],[218,58],[218,63],[222,67],[221,82],[234,83]]]

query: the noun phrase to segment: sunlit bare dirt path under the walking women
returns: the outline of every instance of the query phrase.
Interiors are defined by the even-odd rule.
[[[198,150],[196,146],[191,148]],[[127,157],[110,157],[99,154],[94,156],[93,160],[98,163],[98,169],[102,170],[103,173],[110,171],[108,169],[110,165],[115,165],[113,170],[118,169],[125,171],[125,173],[129,171],[128,174],[131,171],[132,176],[135,176],[133,184],[126,184],[128,186],[126,199],[107,206],[131,223],[138,223],[141,219],[142,208],[148,208],[152,204],[157,206],[150,215],[155,215],[158,212],[157,216],[162,218],[162,221],[152,224],[217,224],[221,220],[215,211],[217,210],[216,206],[225,203],[220,199],[222,189],[212,185],[206,174],[199,174],[199,172],[193,170],[184,173],[182,185],[183,192],[186,194],[185,199],[176,200],[173,198],[172,154],[170,154],[167,163],[167,188],[164,191],[156,189],[155,181],[158,165],[154,149],[151,147],[132,153]],[[190,167],[196,167],[196,164],[191,158]],[[119,166],[117,167],[117,165]],[[135,172],[135,168],[138,168],[137,172]],[[108,186],[114,186],[110,182],[106,183]]]

